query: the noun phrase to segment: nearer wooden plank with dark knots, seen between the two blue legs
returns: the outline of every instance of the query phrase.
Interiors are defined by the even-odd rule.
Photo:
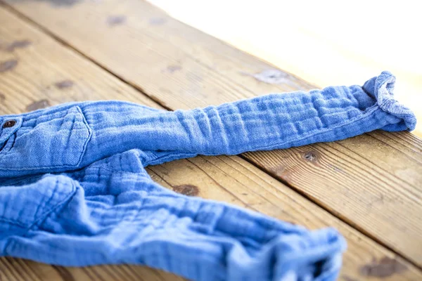
[[[2,107],[0,114],[5,113],[2,110],[23,112],[28,105],[33,105],[33,100],[47,100],[54,105],[61,103],[64,98],[122,98],[154,105],[131,86],[87,62],[74,51],[58,44],[1,7],[0,38],[3,46],[0,61],[10,60],[11,56],[18,60],[18,65],[13,69],[0,73],[0,91],[3,93],[1,104],[6,103],[12,108],[8,110]],[[15,48],[12,54],[4,51],[13,42],[25,40],[32,44],[26,44],[25,48]],[[34,61],[42,62],[46,67],[38,71],[39,66]],[[55,87],[46,91],[49,86],[62,79],[74,81],[74,84],[71,87]],[[25,95],[21,97],[20,93]],[[422,279],[421,270],[411,263],[347,226],[240,157],[195,157],[150,166],[148,172],[155,181],[167,188],[180,191],[186,190],[186,186],[195,186],[198,188],[197,195],[201,197],[237,204],[308,228],[338,228],[348,242],[340,280],[380,280],[381,277],[383,280]],[[28,279],[180,280],[174,275],[141,266],[63,268],[20,259],[0,259],[0,280]]]

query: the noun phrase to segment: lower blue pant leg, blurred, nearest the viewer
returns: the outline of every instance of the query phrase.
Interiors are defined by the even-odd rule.
[[[20,187],[37,190],[37,204],[49,208],[32,204],[19,220],[25,231],[5,231],[0,254],[62,266],[141,264],[191,280],[335,280],[345,249],[336,230],[178,195],[153,183],[136,157],[124,152]],[[23,192],[7,198],[34,200]]]

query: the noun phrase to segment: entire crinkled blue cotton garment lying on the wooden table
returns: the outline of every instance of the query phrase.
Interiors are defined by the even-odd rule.
[[[144,169],[414,129],[383,72],[364,86],[167,112],[122,101],[0,117],[0,256],[143,264],[191,280],[335,280],[344,238],[179,195]]]

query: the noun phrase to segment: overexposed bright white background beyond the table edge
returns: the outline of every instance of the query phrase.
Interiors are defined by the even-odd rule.
[[[362,84],[389,70],[397,100],[422,119],[418,1],[150,1],[316,86]],[[414,133],[422,136],[422,123]]]

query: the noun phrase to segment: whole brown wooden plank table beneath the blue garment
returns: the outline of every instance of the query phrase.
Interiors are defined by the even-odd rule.
[[[188,109],[314,88],[144,1],[1,1],[1,115],[104,99]],[[198,156],[148,172],[167,188],[338,228],[348,242],[339,280],[422,280],[422,141],[411,133]],[[0,280],[181,278],[142,266],[2,258]]]

